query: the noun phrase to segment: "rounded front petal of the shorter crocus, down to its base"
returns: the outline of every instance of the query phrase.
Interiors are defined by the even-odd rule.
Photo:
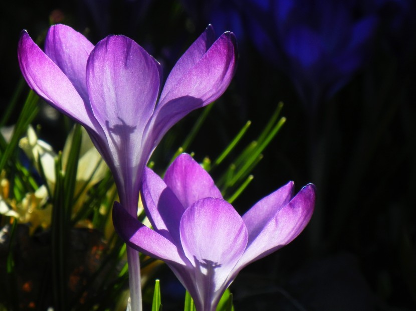
[[[180,238],[195,267],[195,281],[204,310],[211,310],[225,290],[227,277],[243,254],[248,239],[240,215],[225,200],[205,198],[183,213]]]

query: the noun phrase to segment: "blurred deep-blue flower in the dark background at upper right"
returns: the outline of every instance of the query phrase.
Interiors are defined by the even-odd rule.
[[[363,66],[377,26],[376,14],[340,0],[247,0],[246,10],[256,47],[312,110]]]

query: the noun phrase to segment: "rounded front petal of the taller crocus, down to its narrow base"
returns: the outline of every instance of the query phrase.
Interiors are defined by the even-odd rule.
[[[152,151],[151,144],[142,143],[142,134],[156,103],[159,70],[159,64],[143,48],[124,36],[101,40],[87,62],[91,108],[107,137],[103,157],[111,159],[107,163],[116,172],[119,191],[134,198],[138,197],[141,170]],[[133,215],[137,206],[123,204]]]

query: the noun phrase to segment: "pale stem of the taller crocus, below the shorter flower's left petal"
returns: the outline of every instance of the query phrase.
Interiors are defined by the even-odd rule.
[[[127,246],[131,311],[142,311],[139,252]]]

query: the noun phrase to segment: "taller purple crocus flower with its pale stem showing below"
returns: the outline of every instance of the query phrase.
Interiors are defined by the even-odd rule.
[[[43,52],[24,31],[18,57],[29,86],[86,128],[114,175],[121,204],[136,217],[150,154],[172,125],[224,93],[237,47],[232,33],[215,40],[207,27],[178,60],[160,95],[159,63],[125,36],[108,36],[94,47],[72,28],[55,25]],[[141,307],[138,254],[128,248],[127,255],[135,310]]]

